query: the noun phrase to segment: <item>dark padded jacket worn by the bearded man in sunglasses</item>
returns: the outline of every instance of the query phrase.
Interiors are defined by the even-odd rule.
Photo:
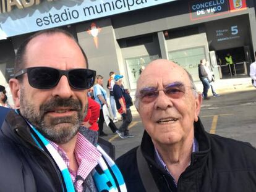
[[[96,144],[95,131],[81,127],[80,133],[87,140]],[[107,141],[103,141],[108,152],[114,149]],[[30,128],[22,116],[10,111],[0,131],[0,191],[35,192],[62,191],[61,173],[53,159],[36,146]],[[93,180],[89,175],[87,186]]]

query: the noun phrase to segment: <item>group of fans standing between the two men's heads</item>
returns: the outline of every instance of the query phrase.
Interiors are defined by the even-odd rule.
[[[116,75],[114,72],[109,73],[107,88],[109,89],[109,101],[107,91],[103,86],[103,76],[96,75],[95,83],[88,94],[88,112],[83,120],[83,125],[92,130],[98,131],[99,136],[107,136],[103,131],[104,122],[113,133],[117,133],[122,139],[134,137],[129,134],[128,126],[132,122],[132,98],[129,91],[122,84],[122,75]],[[122,124],[116,127],[117,111],[122,117]],[[89,123],[89,125],[88,125]]]

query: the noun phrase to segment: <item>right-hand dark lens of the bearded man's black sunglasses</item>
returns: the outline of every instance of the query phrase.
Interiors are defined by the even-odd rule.
[[[73,88],[84,90],[92,86],[94,73],[86,69],[74,69],[69,72],[69,83]]]

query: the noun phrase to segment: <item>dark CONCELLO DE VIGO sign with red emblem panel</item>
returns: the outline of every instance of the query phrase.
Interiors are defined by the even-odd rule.
[[[246,0],[212,0],[189,2],[190,19],[198,20],[247,9]]]

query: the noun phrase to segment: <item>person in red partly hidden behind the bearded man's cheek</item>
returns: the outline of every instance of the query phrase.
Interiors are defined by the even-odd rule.
[[[100,104],[88,97],[88,111],[82,125],[90,130],[98,131],[98,118],[100,117]]]

